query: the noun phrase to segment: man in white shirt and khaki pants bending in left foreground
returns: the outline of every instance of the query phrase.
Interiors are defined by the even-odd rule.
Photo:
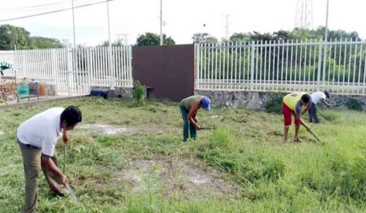
[[[69,194],[65,187],[68,182],[60,171],[55,146],[62,136],[68,141],[67,130],[72,130],[81,122],[78,107],[53,107],[20,124],[16,137],[23,156],[25,173],[25,205],[23,212],[36,212],[38,175],[42,168],[49,187],[59,195]]]

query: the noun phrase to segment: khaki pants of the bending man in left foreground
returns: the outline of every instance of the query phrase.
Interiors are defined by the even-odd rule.
[[[53,192],[59,195],[66,195],[68,194],[68,191],[66,187],[60,183],[59,178],[55,174],[41,165],[42,151],[40,148],[22,144],[18,139],[17,141],[23,156],[25,174],[25,205],[23,212],[34,213],[37,212],[38,175],[41,168],[48,185]],[[59,167],[56,152],[54,152],[52,160],[55,162],[56,166]]]

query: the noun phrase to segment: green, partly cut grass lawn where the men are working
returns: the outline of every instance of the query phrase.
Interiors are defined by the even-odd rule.
[[[364,113],[322,109],[330,121],[311,125],[322,146],[304,128],[304,142],[292,143],[293,125],[284,143],[281,114],[200,110],[201,127],[214,129],[183,143],[178,103],[82,98],[0,110],[0,212],[23,206],[18,125],[69,104],[83,113],[67,145],[66,175],[78,200],[53,196],[41,172],[39,212],[366,211]],[[61,141],[57,153],[62,171]]]

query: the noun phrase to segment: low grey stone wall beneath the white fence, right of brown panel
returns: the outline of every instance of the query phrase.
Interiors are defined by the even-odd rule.
[[[281,99],[285,92],[260,92],[260,91],[215,91],[195,90],[194,94],[205,95],[211,98],[213,107],[246,107],[264,110],[273,99]],[[341,108],[355,107],[366,111],[366,95],[330,94],[326,100],[330,104],[341,104]]]

